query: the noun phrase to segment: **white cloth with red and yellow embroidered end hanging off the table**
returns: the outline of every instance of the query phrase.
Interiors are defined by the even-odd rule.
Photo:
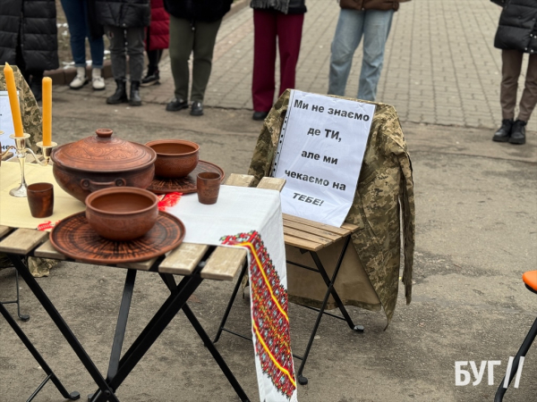
[[[215,205],[200,204],[196,194],[184,195],[166,212],[183,221],[185,242],[248,248],[260,400],[296,401],[279,192],[222,186]]]

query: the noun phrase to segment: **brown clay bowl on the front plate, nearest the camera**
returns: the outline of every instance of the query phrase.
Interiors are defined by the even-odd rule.
[[[135,187],[103,188],[86,198],[86,219],[105,239],[141,238],[158,218],[158,197]]]

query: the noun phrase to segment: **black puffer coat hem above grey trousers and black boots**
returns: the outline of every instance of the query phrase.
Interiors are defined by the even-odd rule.
[[[98,21],[105,27],[148,27],[149,0],[97,0]]]

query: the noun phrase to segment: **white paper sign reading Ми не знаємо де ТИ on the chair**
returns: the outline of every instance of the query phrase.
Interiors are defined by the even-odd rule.
[[[293,90],[272,176],[282,211],[341,226],[353,204],[375,105]]]

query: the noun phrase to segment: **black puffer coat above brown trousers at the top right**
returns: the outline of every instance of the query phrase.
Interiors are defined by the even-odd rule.
[[[507,0],[494,38],[499,49],[537,54],[537,0]]]

